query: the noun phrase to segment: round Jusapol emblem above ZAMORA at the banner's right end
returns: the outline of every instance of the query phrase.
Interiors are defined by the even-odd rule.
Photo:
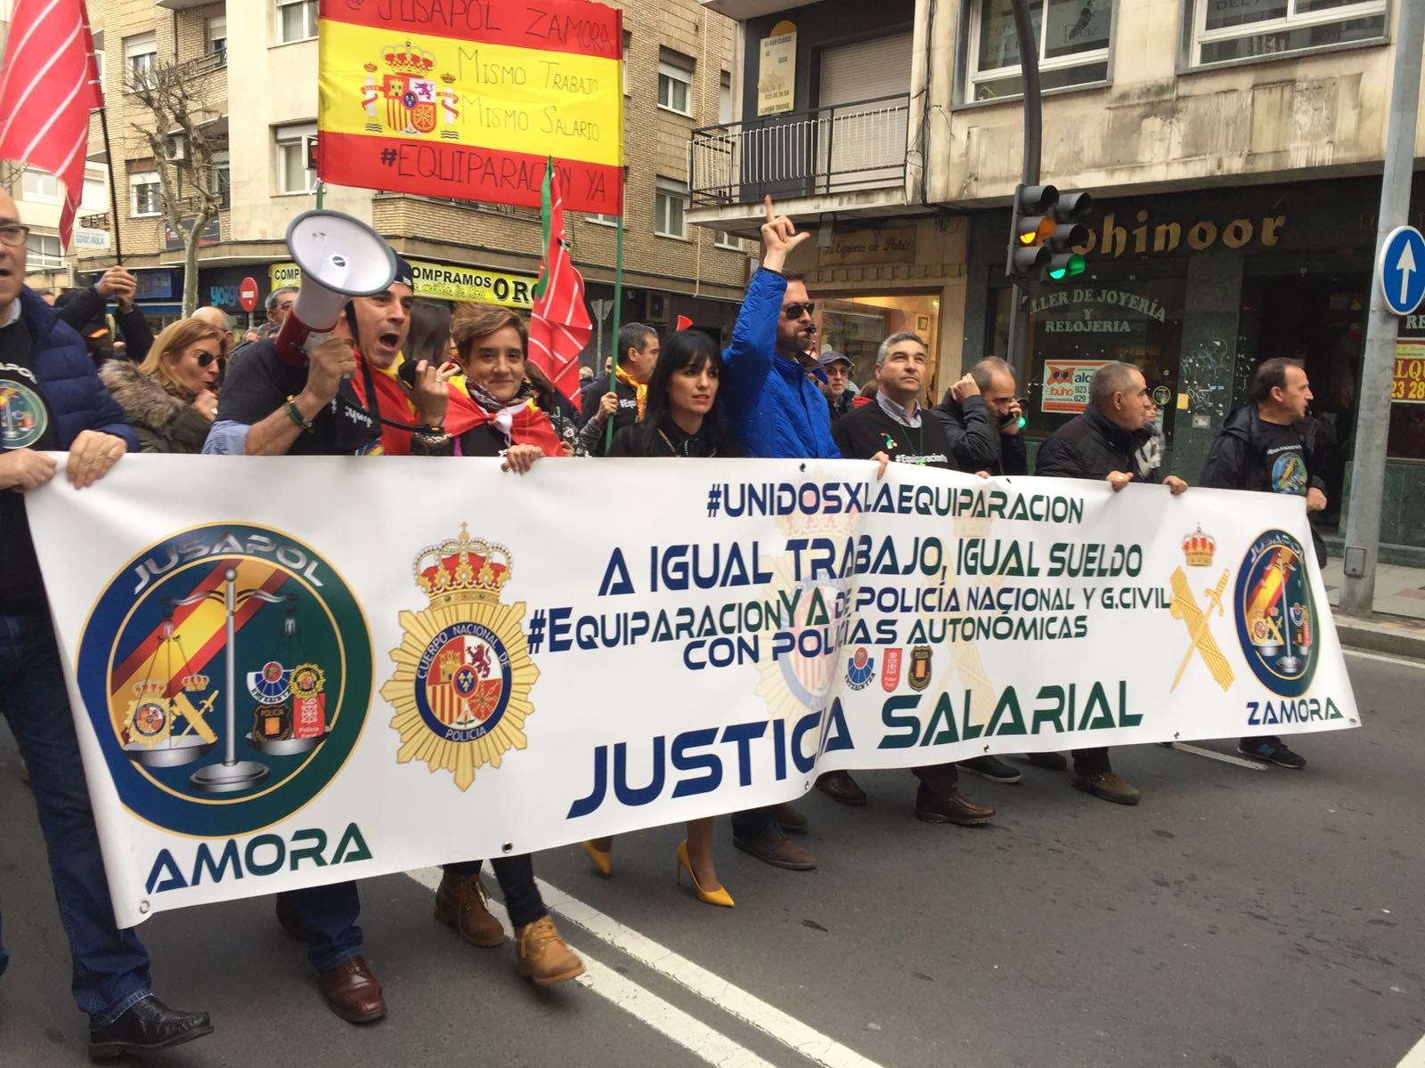
[[[1317,666],[1318,615],[1301,543],[1284,530],[1257,535],[1237,574],[1237,638],[1253,674],[1295,698]]]

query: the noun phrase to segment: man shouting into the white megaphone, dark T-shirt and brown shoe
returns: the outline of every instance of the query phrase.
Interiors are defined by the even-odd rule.
[[[437,369],[418,363],[415,389],[398,375],[415,296],[410,265],[399,256],[396,263],[390,286],[352,298],[332,337],[314,345],[302,366],[286,363],[271,337],[249,345],[229,369],[204,451],[406,454],[442,436],[447,392]],[[306,943],[328,1007],[342,1020],[366,1024],[386,1014],[386,1002],[361,954],[359,913],[353,881],[276,899],[278,921]]]

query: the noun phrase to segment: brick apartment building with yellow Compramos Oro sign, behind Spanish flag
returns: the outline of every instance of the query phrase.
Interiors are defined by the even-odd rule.
[[[730,333],[747,281],[740,239],[687,222],[685,144],[691,130],[728,108],[732,23],[693,0],[620,4],[624,11],[624,306],[623,322],[671,328],[685,315]],[[194,3],[91,0],[90,17],[105,53],[104,84],[118,194],[117,225],[125,263],[141,279],[141,303],[162,322],[178,315],[184,281],[180,235],[160,202],[158,161],[137,127],[152,122],[133,93],[162,64],[177,64],[202,110],[214,147],[211,177],[184,172],[221,191],[221,209],[202,229],[198,302],[234,313],[239,283],[259,298],[295,276],[284,235],[316,206],[316,0]],[[185,151],[171,138],[167,151]],[[98,122],[91,159],[104,161]],[[322,206],[348,212],[380,232],[416,266],[418,295],[496,299],[527,309],[539,271],[540,222],[533,208],[437,199],[325,185]],[[591,318],[603,329],[587,359],[607,352],[616,229],[613,218],[566,212],[574,262],[584,275]],[[113,249],[74,249],[83,279],[111,262]]]

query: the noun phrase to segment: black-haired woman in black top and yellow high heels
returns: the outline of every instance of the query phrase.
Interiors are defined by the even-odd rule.
[[[717,403],[722,356],[700,330],[678,330],[663,346],[648,379],[643,420],[614,434],[608,456],[741,456]],[[594,866],[613,870],[613,839],[593,839],[584,852]],[[712,864],[712,817],[688,820],[688,836],[678,846],[678,879],[687,871],[698,900],[732,907],[732,897],[718,881]]]

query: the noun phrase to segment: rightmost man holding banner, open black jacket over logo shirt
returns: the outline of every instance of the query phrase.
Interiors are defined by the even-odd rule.
[[[1311,383],[1297,360],[1271,359],[1257,367],[1251,383],[1253,403],[1233,412],[1213,440],[1203,463],[1203,486],[1221,490],[1288,493],[1307,498],[1307,513],[1327,507],[1327,484],[1315,474],[1317,424],[1307,417]],[[1327,551],[1311,527],[1317,562]],[[1244,738],[1237,752],[1281,768],[1305,768],[1275,735]]]

